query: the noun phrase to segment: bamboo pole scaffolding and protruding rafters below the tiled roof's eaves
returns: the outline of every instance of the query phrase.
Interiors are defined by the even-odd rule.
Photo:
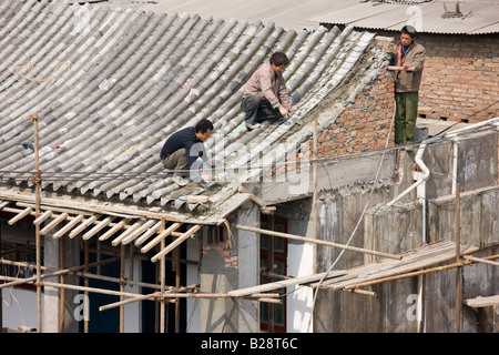
[[[8,277],[1,276],[0,280],[4,281],[3,284],[0,284],[0,290],[4,287],[11,287],[14,285],[32,283],[37,287],[37,310],[38,310],[38,332],[41,332],[41,290],[43,286],[58,287],[61,291],[60,294],[60,310],[62,311],[64,307],[64,290],[75,290],[81,291],[88,294],[89,292],[101,293],[101,294],[110,294],[120,296],[119,302],[114,302],[112,304],[108,304],[100,307],[100,311],[110,310],[113,307],[120,307],[120,332],[124,332],[124,305],[141,302],[141,301],[155,301],[160,303],[160,332],[165,332],[165,304],[166,303],[175,303],[175,331],[180,332],[180,300],[181,298],[241,298],[241,300],[251,300],[256,302],[267,302],[267,303],[282,303],[282,295],[278,293],[269,293],[271,291],[283,287],[283,285],[307,285],[313,288],[325,287],[332,290],[343,290],[348,292],[355,292],[366,295],[374,296],[375,293],[361,290],[360,287],[370,286],[376,283],[390,282],[395,280],[422,275],[427,273],[438,272],[448,268],[456,268],[456,329],[460,332],[460,270],[462,266],[471,265],[475,263],[486,263],[489,265],[499,266],[499,263],[493,262],[493,260],[499,258],[499,255],[491,255],[488,257],[475,257],[470,254],[479,251],[478,247],[473,246],[462,246],[460,244],[459,231],[460,231],[460,221],[459,221],[459,183],[452,186],[452,191],[455,193],[456,199],[456,242],[454,245],[454,254],[455,254],[455,263],[437,266],[431,268],[425,268],[434,264],[441,263],[444,261],[449,260],[448,255],[445,260],[434,258],[427,261],[426,264],[413,264],[410,267],[394,267],[395,271],[391,273],[384,274],[383,272],[377,273],[376,276],[373,276],[370,280],[366,280],[364,282],[358,282],[355,280],[353,283],[348,282],[343,284],[343,286],[338,286],[342,284],[344,278],[349,278],[350,272],[328,272],[320,274],[313,274],[306,277],[296,277],[288,278],[286,281],[277,281],[267,283],[264,285],[257,285],[254,287],[248,287],[246,290],[235,290],[232,292],[227,292],[224,294],[215,294],[215,293],[200,293],[198,284],[182,286],[180,284],[180,248],[179,246],[186,240],[191,237],[195,237],[196,234],[202,231],[205,225],[222,225],[224,224],[227,227],[227,233],[231,237],[232,233],[230,230],[228,222],[225,219],[221,219],[218,221],[212,221],[211,223],[200,223],[198,221],[190,221],[186,219],[182,219],[175,215],[169,215],[161,212],[152,212],[144,210],[135,210],[135,209],[126,209],[126,207],[115,207],[115,206],[106,206],[106,205],[95,205],[88,204],[74,201],[64,201],[60,199],[50,199],[44,197],[41,201],[41,172],[39,170],[39,142],[38,142],[38,115],[32,114],[29,120],[33,122],[34,126],[34,172],[31,182],[34,185],[34,196],[27,194],[16,194],[16,193],[7,193],[0,192],[0,211],[13,213],[14,216],[8,221],[9,224],[14,224],[27,216],[33,216],[33,224],[35,226],[35,264],[22,263],[22,262],[13,262],[6,261],[0,258],[0,264],[10,264],[22,267],[35,268],[35,275],[28,278],[20,277]],[[452,133],[455,134],[455,133]],[[314,175],[314,184],[316,176]],[[263,213],[273,214],[272,206],[267,206],[266,203],[258,197],[254,196],[252,193],[246,191],[240,191],[248,194],[249,200],[252,200],[256,205],[258,205]],[[314,196],[316,196],[316,191],[314,190]],[[315,199],[315,197],[314,197]],[[16,206],[11,206],[11,203],[16,203]],[[42,212],[43,211],[43,212]],[[314,212],[315,214],[315,212]],[[120,222],[113,222],[116,217],[120,217]],[[43,225],[43,223],[49,223]],[[64,268],[64,253],[60,253],[60,267],[58,270],[49,268],[41,265],[41,236],[48,234],[50,231],[55,229],[57,226],[65,223],[63,227],[57,231],[52,237],[60,241],[60,245],[63,246],[64,235],[69,239],[73,239],[74,236],[82,234],[82,242],[84,244],[84,264],[74,266],[71,268]],[[171,223],[170,226],[166,227],[166,223]],[[314,224],[316,223],[314,217]],[[177,230],[182,225],[191,225],[186,232],[177,232]],[[43,227],[41,227],[43,225]],[[100,232],[103,229],[108,229],[108,231],[103,234]],[[236,229],[245,230],[249,232],[254,232],[256,234],[267,234],[277,237],[286,237],[292,240],[298,240],[304,243],[312,243],[314,245],[325,245],[328,247],[338,247],[343,250],[349,250],[354,252],[365,253],[377,255],[388,260],[393,264],[404,264],[406,255],[394,255],[388,253],[380,253],[377,251],[354,247],[348,245],[342,245],[337,243],[329,243],[325,241],[319,241],[316,239],[316,233],[314,232],[314,239],[306,239],[288,233],[281,233],[275,231],[262,230],[256,227],[235,225]],[[314,225],[315,230],[315,225]],[[120,233],[121,232],[121,233]],[[120,233],[116,237],[111,241],[112,246],[120,246],[120,255],[100,260],[98,254],[98,262],[90,264],[89,263],[89,240],[99,235],[98,241],[104,242],[111,239],[114,234]],[[153,237],[154,236],[154,237]],[[167,236],[172,236],[174,240],[172,243],[166,245],[165,239]],[[153,239],[152,239],[153,237]],[[152,240],[151,240],[152,239]],[[147,242],[149,241],[149,242]],[[146,245],[142,246],[147,242]],[[126,253],[125,247],[130,244],[131,246],[142,246],[141,253],[147,255],[153,247],[160,247],[160,252],[154,254],[150,260],[153,263],[160,262],[161,270],[159,276],[159,284],[150,284],[135,282],[133,280],[125,280],[124,277],[124,267]],[[60,247],[60,251],[63,247]],[[130,247],[129,257],[131,261],[136,256],[133,254],[133,248]],[[447,250],[449,252],[449,250]],[[165,284],[165,260],[166,255],[172,253],[172,266],[174,266],[176,277],[175,285],[166,285]],[[462,261],[462,257],[465,261]],[[120,261],[120,277],[110,277],[100,275],[100,267],[106,263]],[[369,264],[367,264],[369,265]],[[98,267],[98,273],[92,274],[89,272],[91,267]],[[374,266],[376,267],[376,266]],[[383,268],[383,267],[381,267]],[[42,273],[45,271],[47,273]],[[355,271],[354,271],[355,273]],[[64,276],[68,274],[73,274],[80,277],[83,277],[85,285],[71,285],[67,284],[64,281]],[[346,274],[346,275],[345,275]],[[60,282],[48,282],[44,278],[60,276]],[[120,284],[120,291],[111,291],[105,288],[90,287],[89,278],[104,280],[109,282],[114,282]],[[278,277],[277,277],[278,278]],[[320,280],[320,283],[317,281]],[[323,281],[325,282],[323,283]],[[140,285],[150,287],[153,290],[159,290],[150,294],[135,294],[124,292],[124,286],[126,284],[130,285]],[[334,285],[336,284],[336,286]],[[128,300],[125,300],[128,297]],[[1,321],[1,318],[0,318]],[[60,312],[59,320],[59,329],[64,328],[64,312]],[[84,324],[84,331],[88,332],[88,321]]]

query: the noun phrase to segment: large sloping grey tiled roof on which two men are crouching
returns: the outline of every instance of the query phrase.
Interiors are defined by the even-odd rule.
[[[273,51],[285,51],[289,90],[302,98],[294,119],[306,121],[374,39],[352,28],[295,32],[272,22],[50,1],[0,7],[2,181],[31,185],[28,119],[38,113],[43,189],[186,212],[207,206],[222,215],[241,183],[262,173],[248,162],[272,163],[283,136],[296,146],[313,132],[291,120],[247,132],[240,103],[251,73]],[[366,79],[348,83],[353,91],[376,77],[384,53],[371,55]],[[330,124],[345,104],[322,123]],[[160,150],[174,131],[204,118],[215,126],[208,153],[231,169],[216,189],[180,187],[165,174]],[[195,194],[208,195],[208,203],[187,203]]]

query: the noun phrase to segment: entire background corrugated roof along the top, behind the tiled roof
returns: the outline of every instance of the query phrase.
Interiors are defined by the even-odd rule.
[[[460,0],[459,13],[454,13],[455,0],[110,0],[109,3],[222,19],[272,20],[278,27],[294,30],[333,23],[399,31],[409,23],[426,33],[499,32],[499,2],[493,0]]]

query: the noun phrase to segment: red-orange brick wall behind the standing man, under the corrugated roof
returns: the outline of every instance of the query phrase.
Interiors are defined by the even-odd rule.
[[[398,32],[379,32],[399,40]],[[476,123],[499,116],[499,36],[421,33],[422,118]]]

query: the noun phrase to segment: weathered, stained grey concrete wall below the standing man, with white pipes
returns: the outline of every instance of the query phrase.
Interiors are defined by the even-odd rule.
[[[465,135],[456,151],[458,173],[452,174],[452,142],[429,145],[422,156],[431,175],[426,184],[426,241],[455,240],[455,199],[449,195],[452,180],[460,182],[461,244],[481,248],[476,256],[497,254],[499,247],[499,204],[497,187],[497,133]],[[416,191],[396,204],[396,209],[379,209],[410,183],[415,153],[400,153],[397,174],[380,187],[375,187],[365,221],[354,234],[352,244],[377,251],[400,253],[422,244],[422,206],[416,202]],[[368,202],[367,189],[337,189],[323,192],[318,202],[320,239],[346,243],[361,210]],[[339,251],[318,247],[318,271],[336,262]],[[376,262],[377,257],[345,252],[335,270]],[[499,293],[497,267],[466,266],[461,271],[461,300]],[[418,282],[424,288],[424,313],[419,323],[414,313]],[[322,290],[314,312],[315,332],[455,332],[456,271],[428,274],[384,283],[371,287],[376,297],[340,291]],[[478,314],[461,306],[461,332],[479,332]]]

